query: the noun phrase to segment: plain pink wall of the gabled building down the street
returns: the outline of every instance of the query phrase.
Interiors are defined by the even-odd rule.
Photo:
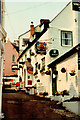
[[[18,71],[12,71],[12,65],[17,64],[18,59],[18,52],[13,47],[11,42],[8,40],[7,43],[5,43],[5,57],[4,57],[4,76],[5,75],[14,75],[18,74]],[[12,55],[15,55],[15,62],[12,62]]]

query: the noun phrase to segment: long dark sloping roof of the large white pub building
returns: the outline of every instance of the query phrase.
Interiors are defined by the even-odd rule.
[[[46,30],[43,30],[43,31],[39,34],[39,36],[38,36],[37,38],[35,38],[32,42],[29,43],[28,47],[26,47],[25,50],[21,53],[21,55],[19,56],[19,58],[18,58],[17,61],[20,60],[20,58],[23,56],[23,54],[24,54],[29,48],[31,48],[31,46],[33,46],[33,45],[38,41],[38,39],[39,39],[46,31],[47,31],[47,29],[46,29]]]

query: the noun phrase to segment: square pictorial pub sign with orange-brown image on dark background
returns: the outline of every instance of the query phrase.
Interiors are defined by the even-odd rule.
[[[46,55],[46,43],[37,42],[35,45],[37,54],[45,54]]]

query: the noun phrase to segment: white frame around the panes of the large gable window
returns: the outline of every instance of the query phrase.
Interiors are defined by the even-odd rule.
[[[71,38],[68,38],[68,37],[67,37],[67,38],[66,38],[66,37],[64,38],[64,40],[70,40],[70,41],[71,41],[71,44],[70,44],[70,45],[69,45],[69,44],[63,44],[63,43],[62,43],[62,41],[63,41],[62,33],[63,33],[63,32],[64,32],[64,33],[70,33]],[[61,31],[61,46],[63,46],[63,47],[67,47],[67,46],[68,46],[68,47],[71,47],[71,46],[73,46],[73,32],[72,32],[72,31],[67,31],[67,30],[62,30],[62,31]]]

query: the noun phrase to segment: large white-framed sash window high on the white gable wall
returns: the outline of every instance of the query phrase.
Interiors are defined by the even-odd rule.
[[[72,46],[72,32],[61,31],[61,46]]]

